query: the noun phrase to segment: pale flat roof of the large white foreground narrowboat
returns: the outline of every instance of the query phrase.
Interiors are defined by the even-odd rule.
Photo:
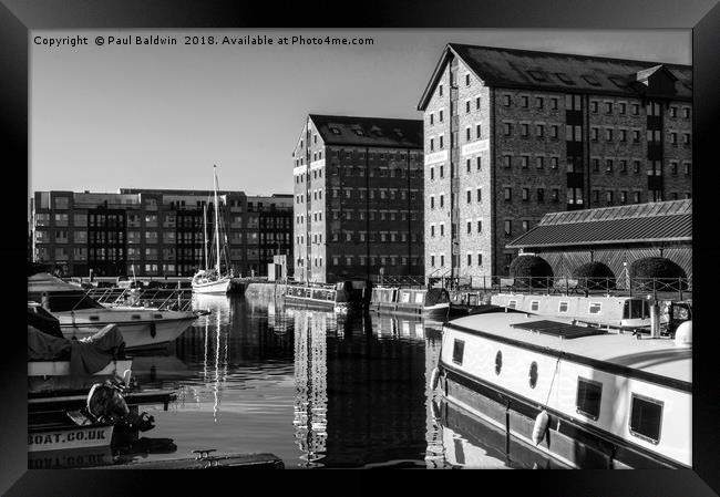
[[[664,376],[681,387],[692,383],[692,349],[678,346],[670,339],[650,339],[647,335],[640,340],[629,333],[600,333],[562,339],[557,335],[537,333],[526,328],[528,323],[548,320],[547,317],[503,312],[475,314],[455,319],[446,328],[482,334],[498,341],[533,349],[538,352],[557,355],[563,353],[568,360],[579,362],[608,363],[618,371],[630,369],[652,375]],[[570,320],[551,318],[562,325],[572,324]],[[525,325],[526,328],[515,328]]]

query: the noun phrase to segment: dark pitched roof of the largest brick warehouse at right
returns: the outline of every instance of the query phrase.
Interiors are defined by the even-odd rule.
[[[692,100],[690,65],[449,43],[420,99],[419,111],[428,106],[452,56],[461,59],[487,86],[635,97],[642,95],[642,89],[631,83],[640,74],[647,76],[662,69],[677,80],[676,93],[664,96]]]

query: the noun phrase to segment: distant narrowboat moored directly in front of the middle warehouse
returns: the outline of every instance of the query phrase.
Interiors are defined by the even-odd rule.
[[[285,302],[318,309],[344,311],[367,306],[370,284],[363,280],[347,280],[335,284],[288,284]]]

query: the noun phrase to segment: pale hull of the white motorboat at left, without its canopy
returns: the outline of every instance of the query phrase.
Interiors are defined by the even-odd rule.
[[[109,314],[111,312],[112,314]],[[102,313],[95,310],[58,312],[60,330],[65,338],[83,339],[95,334],[107,324],[116,324],[125,349],[154,346],[172,342],[187,330],[197,317],[192,312],[113,309]],[[97,321],[91,321],[96,315]],[[157,318],[161,317],[162,318]]]

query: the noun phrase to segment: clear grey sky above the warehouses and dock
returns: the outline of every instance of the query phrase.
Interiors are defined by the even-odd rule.
[[[99,46],[97,35],[178,44]],[[276,44],[185,45],[185,35],[267,35]],[[292,35],[374,42],[277,44]],[[35,37],[88,37],[89,45]],[[689,30],[32,31],[29,196],[212,189],[214,164],[222,189],[291,193],[307,114],[422,118],[418,102],[449,42],[691,64]]]

